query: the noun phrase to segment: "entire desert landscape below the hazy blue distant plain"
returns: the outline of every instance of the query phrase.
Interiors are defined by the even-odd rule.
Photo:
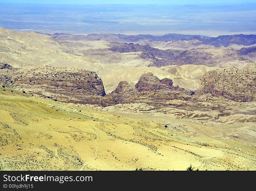
[[[1,170],[256,170],[256,35],[0,28]]]

